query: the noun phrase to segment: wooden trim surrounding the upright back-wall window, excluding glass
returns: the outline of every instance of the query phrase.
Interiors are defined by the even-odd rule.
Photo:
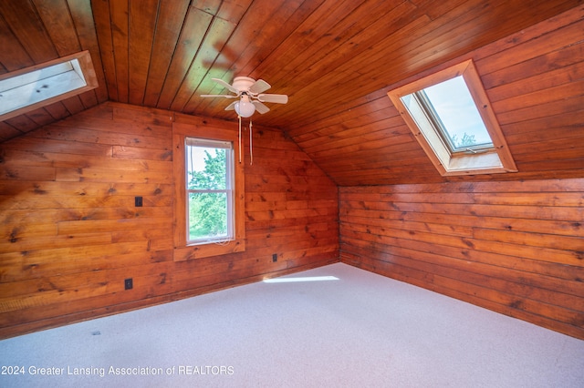
[[[186,190],[186,138],[205,138],[216,141],[229,141],[234,153],[234,236],[233,240],[190,243],[187,239],[188,206]],[[209,125],[177,123],[172,125],[173,176],[174,176],[174,215],[173,215],[173,259],[175,261],[193,260],[224,255],[245,250],[245,175],[244,164],[235,160],[239,153],[237,132]]]

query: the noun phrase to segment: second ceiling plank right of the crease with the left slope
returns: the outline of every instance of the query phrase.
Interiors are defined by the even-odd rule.
[[[130,12],[128,0],[110,0],[110,28],[113,43],[113,60],[116,71],[118,102],[128,103],[130,67],[129,61],[129,28]]]

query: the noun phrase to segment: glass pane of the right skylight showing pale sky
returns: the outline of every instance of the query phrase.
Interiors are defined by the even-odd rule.
[[[454,77],[423,89],[443,124],[454,150],[492,146],[491,137],[478,113],[464,77]]]

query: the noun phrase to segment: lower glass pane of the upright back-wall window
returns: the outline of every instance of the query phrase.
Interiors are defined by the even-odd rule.
[[[227,193],[189,193],[189,240],[227,238]]]

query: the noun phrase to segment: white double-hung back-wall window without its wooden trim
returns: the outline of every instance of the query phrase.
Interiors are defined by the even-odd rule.
[[[233,240],[233,145],[186,138],[185,149],[187,243]]]

